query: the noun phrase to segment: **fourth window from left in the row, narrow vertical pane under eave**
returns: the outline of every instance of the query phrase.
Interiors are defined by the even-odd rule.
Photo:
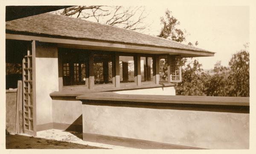
[[[141,81],[153,81],[153,58],[140,57]]]

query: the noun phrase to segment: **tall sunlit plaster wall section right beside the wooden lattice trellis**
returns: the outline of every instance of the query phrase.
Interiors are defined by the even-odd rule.
[[[36,45],[36,124],[52,122],[50,93],[58,91],[58,49],[55,46]]]

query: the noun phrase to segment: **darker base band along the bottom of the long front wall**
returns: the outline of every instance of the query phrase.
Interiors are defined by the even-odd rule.
[[[83,133],[83,140],[140,149],[202,149],[191,146],[148,141],[143,139],[131,139],[126,137],[114,137],[90,133]]]

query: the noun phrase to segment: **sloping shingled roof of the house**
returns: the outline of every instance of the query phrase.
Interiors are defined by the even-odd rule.
[[[51,13],[7,21],[6,30],[209,52],[169,39]]]

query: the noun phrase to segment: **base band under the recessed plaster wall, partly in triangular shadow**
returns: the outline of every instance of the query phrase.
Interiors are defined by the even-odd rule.
[[[57,122],[41,124],[41,125],[37,125],[36,127],[37,127],[37,131],[44,131],[48,129],[59,129],[59,130],[65,130],[65,131],[82,132],[83,130],[82,125],[64,124],[64,123],[57,123]]]

